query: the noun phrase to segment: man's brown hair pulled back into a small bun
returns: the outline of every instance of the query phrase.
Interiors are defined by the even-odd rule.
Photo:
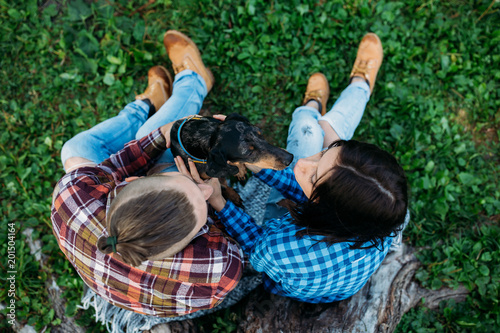
[[[155,177],[164,176],[138,179],[125,186],[108,212],[109,237],[117,237],[116,252],[131,266],[139,266],[148,257],[168,250],[196,225],[194,207],[183,192],[172,188],[148,191],[148,178]],[[107,239],[101,237],[97,244],[105,254],[113,252]]]

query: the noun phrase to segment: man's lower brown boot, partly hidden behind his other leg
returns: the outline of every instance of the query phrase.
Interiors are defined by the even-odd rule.
[[[149,99],[156,110],[172,96],[172,76],[163,66],[151,67],[148,71],[148,87],[136,100]]]

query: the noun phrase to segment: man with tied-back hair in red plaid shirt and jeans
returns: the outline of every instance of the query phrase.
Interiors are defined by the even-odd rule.
[[[212,187],[177,172],[167,149],[173,121],[200,111],[213,75],[187,36],[168,31],[164,44],[173,91],[168,71],[152,67],[135,102],[65,143],[51,219],[62,252],[101,298],[174,317],[219,305],[240,280],[243,252],[207,222]],[[162,162],[173,166],[144,177]]]

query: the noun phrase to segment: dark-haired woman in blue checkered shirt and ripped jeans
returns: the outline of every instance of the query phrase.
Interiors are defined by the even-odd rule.
[[[346,299],[380,266],[403,228],[408,206],[403,169],[375,145],[350,140],[382,58],[378,36],[365,35],[350,84],[326,114],[328,81],[313,74],[288,133],[287,150],[298,159],[295,166],[282,171],[248,166],[297,203],[291,213],[260,227],[211,183],[210,204],[252,266],[264,273],[264,287],[271,293],[310,303]],[[202,183],[193,165],[191,174],[184,165],[180,170]]]

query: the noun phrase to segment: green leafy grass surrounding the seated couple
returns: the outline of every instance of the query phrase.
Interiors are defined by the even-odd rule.
[[[215,74],[204,109],[239,112],[281,146],[308,76],[329,78],[331,106],[359,41],[373,31],[385,58],[355,138],[390,151],[407,172],[412,223],[405,241],[419,248],[417,279],[432,289],[462,283],[470,290],[464,303],[442,303],[438,311],[424,302],[398,331],[500,330],[500,3],[145,3],[0,0],[0,264],[6,272],[7,224],[14,222],[19,321],[37,330],[58,324],[44,288],[54,276],[69,300],[67,315],[102,330],[90,312],[77,311],[83,283],[52,235],[60,149],[142,92],[149,67],[170,67],[167,29],[191,36]],[[43,242],[43,269],[21,233],[28,227]],[[232,331],[237,312],[199,324]]]

